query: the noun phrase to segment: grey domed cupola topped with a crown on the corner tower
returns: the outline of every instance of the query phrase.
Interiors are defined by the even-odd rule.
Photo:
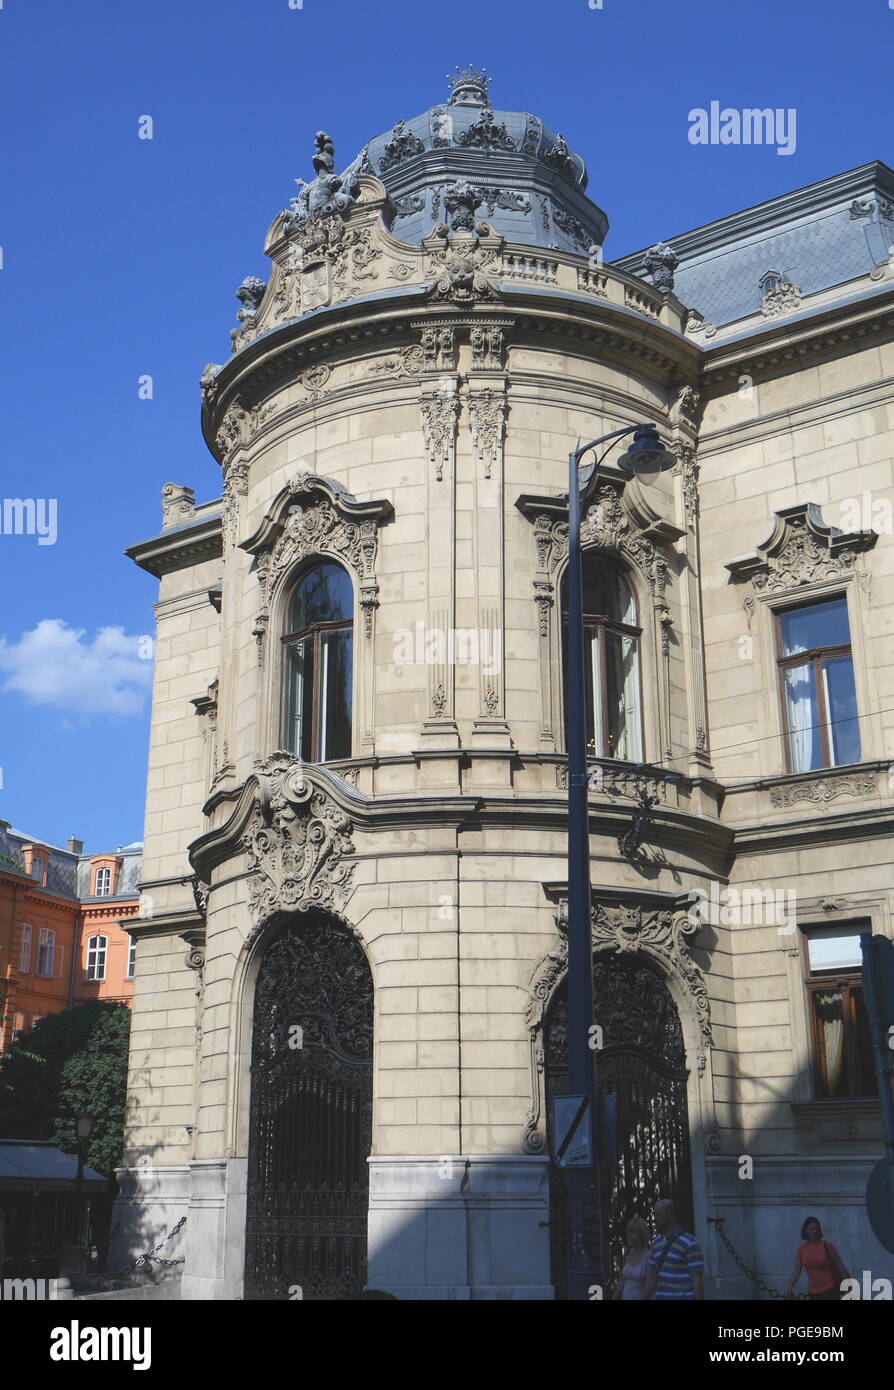
[[[521,245],[578,256],[602,246],[608,218],[584,196],[587,168],[564,138],[526,111],[494,110],[477,68],[448,81],[445,106],[398,121],[352,165],[385,185],[393,236],[420,242],[437,222],[463,231],[481,218]]]

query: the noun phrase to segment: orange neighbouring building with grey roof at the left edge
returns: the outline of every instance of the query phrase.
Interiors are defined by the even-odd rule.
[[[0,820],[0,1052],[44,1013],[86,999],[129,1004],[142,844],[85,855]]]

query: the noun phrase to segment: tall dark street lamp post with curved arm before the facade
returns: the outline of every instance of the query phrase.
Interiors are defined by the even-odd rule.
[[[581,516],[590,500],[605,453],[584,481],[580,464],[584,455],[601,443],[609,449],[624,435],[634,439],[619,460],[619,467],[634,474],[638,466],[669,468],[676,460],[660,443],[655,425],[627,425],[592,439],[569,455],[569,645],[566,676],[566,745],[569,755],[569,905],[567,905],[567,1074],[571,1095],[580,1099],[576,1137],[583,1136],[583,1151],[590,1163],[566,1169],[570,1218],[570,1259],[567,1297],[573,1301],[592,1297],[594,1286],[605,1295],[606,1272],[594,1268],[587,1241],[587,1227],[598,1230],[598,1265],[603,1264],[605,1240],[599,1229],[599,1170],[594,1151],[594,1001],[592,945],[590,926],[590,819],[587,802],[587,702],[584,687],[584,613],[581,588]],[[606,449],[606,453],[609,450]],[[566,1141],[570,1136],[566,1136]],[[594,1241],[595,1243],[595,1241]]]

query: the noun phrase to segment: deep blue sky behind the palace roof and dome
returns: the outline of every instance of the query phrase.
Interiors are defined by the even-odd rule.
[[[0,534],[0,816],[89,851],[142,835],[156,581],[122,550],[164,482],[220,491],[196,381],[314,131],[341,168],[484,65],[496,107],[587,160],[610,259],[894,163],[893,51],[888,0],[4,0],[0,495],[57,499],[58,534]],[[795,153],[690,145],[712,100],[794,107]]]

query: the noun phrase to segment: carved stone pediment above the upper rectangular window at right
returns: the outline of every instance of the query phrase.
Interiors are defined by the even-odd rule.
[[[730,562],[727,570],[733,580],[751,580],[761,594],[780,594],[852,573],[856,553],[869,550],[876,539],[875,531],[845,534],[826,525],[820,507],[799,503],[777,512],[773,532],[756,553]]]

